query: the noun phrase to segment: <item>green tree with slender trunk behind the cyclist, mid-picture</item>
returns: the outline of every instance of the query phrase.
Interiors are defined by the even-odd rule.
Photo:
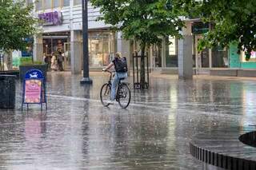
[[[140,43],[141,85],[145,85],[144,56],[147,45],[158,44],[163,37],[181,38],[179,28],[184,23],[179,18],[180,10],[174,10],[172,3],[166,0],[91,0],[93,6],[100,7],[106,24],[122,31],[125,39],[135,39]]]

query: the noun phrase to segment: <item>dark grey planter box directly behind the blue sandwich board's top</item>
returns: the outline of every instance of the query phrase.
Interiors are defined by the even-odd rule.
[[[47,65],[19,65],[19,79],[23,81],[25,74],[30,69],[39,69],[43,76],[47,76]]]

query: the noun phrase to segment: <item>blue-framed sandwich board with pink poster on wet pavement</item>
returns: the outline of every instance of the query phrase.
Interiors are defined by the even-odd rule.
[[[41,105],[42,110],[43,103],[46,104],[47,110],[46,79],[39,69],[30,69],[26,72],[23,81],[22,110],[23,105],[26,105],[28,109],[29,104]]]

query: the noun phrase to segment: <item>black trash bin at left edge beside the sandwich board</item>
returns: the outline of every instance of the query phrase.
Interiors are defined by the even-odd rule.
[[[15,78],[13,75],[0,75],[0,109],[15,108]]]

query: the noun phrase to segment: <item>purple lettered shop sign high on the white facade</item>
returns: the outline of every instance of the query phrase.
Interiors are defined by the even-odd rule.
[[[42,26],[58,26],[62,25],[62,12],[54,11],[50,13],[38,14],[39,20],[41,20]]]

